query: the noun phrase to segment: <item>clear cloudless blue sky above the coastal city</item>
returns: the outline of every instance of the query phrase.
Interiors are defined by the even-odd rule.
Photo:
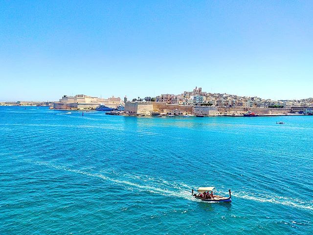
[[[0,101],[313,96],[313,0],[0,1]]]

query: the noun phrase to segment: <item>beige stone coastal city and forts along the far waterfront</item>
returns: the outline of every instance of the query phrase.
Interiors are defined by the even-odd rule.
[[[99,98],[85,94],[64,95],[59,101],[0,102],[0,105],[49,106],[55,110],[97,110],[108,115],[126,116],[277,116],[312,115],[313,98],[301,100],[271,100],[257,96],[207,93],[201,87],[181,94],[160,94],[156,97],[127,96]]]

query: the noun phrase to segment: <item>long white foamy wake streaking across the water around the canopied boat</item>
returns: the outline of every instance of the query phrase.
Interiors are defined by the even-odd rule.
[[[191,200],[191,201],[199,201],[191,196],[191,188],[196,188],[196,187],[188,186],[181,182],[168,182],[162,179],[151,178],[149,176],[144,176],[144,175],[133,175],[133,174],[120,175],[119,173],[114,172],[114,170],[112,171],[110,176],[106,176],[104,174],[108,174],[107,172],[90,173],[87,171],[71,169],[69,167],[51,164],[48,162],[40,162],[40,161],[32,161],[32,160],[24,160],[24,161],[28,163],[33,163],[33,164],[45,165],[48,167],[52,167],[52,168],[59,169],[59,170],[64,170],[67,172],[78,173],[78,174],[86,175],[88,177],[99,178],[105,181],[110,181],[114,184],[124,186],[128,190],[136,189],[141,192],[144,191],[144,192],[160,194],[162,196],[170,196],[170,197],[177,197],[177,198],[182,198],[182,199]],[[112,177],[112,175],[113,177],[120,177],[120,176],[122,176],[123,178],[126,177],[127,180],[115,179]],[[279,205],[284,205],[288,207],[294,207],[294,208],[313,211],[313,201],[305,202],[296,198],[286,198],[286,197],[279,197],[279,196],[270,198],[270,197],[262,197],[256,194],[252,194],[251,196],[251,193],[236,191],[235,189],[233,189],[233,191],[234,191],[232,193],[233,198],[242,198],[242,199],[253,200],[253,201],[257,201],[261,203],[273,203],[273,204],[279,204]],[[215,202],[203,202],[203,203],[215,203]]]

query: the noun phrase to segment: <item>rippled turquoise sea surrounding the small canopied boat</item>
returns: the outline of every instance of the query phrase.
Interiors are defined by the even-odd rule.
[[[0,235],[313,234],[312,116],[67,112],[0,107]]]

